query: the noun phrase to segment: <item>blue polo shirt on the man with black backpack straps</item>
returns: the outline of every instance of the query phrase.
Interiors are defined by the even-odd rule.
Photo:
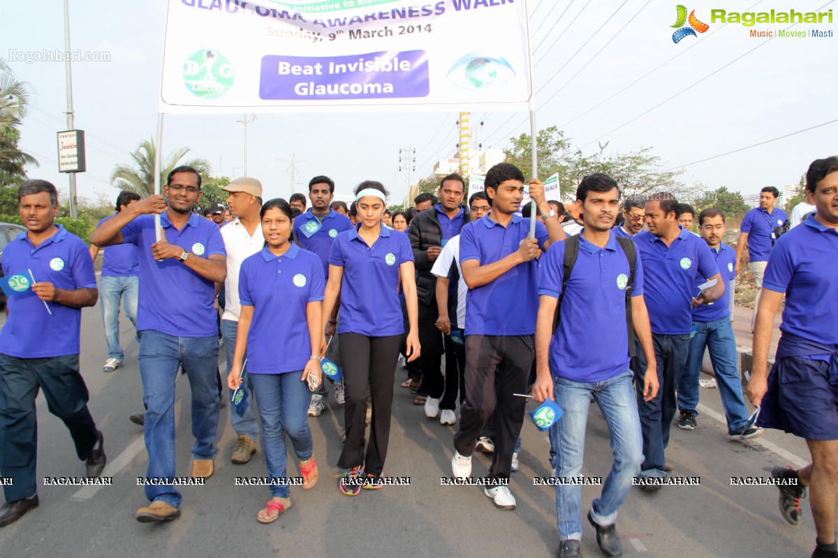
[[[538,294],[559,298],[564,257],[565,242],[551,244],[541,261]],[[629,370],[625,305],[629,277],[629,259],[614,234],[605,248],[579,238],[579,255],[561,300],[561,321],[550,341],[550,370],[554,376],[595,382]],[[643,264],[638,259],[632,296],[641,294]]]

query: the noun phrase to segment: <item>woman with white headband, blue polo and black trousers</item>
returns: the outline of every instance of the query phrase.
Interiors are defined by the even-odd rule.
[[[381,225],[386,198],[380,182],[365,181],[355,188],[358,224],[338,234],[328,259],[323,316],[331,315],[340,297],[340,346],[352,347],[352,358],[344,359],[346,441],[338,460],[338,467],[346,469],[339,489],[348,496],[359,494],[362,485],[365,489],[383,485],[396,359],[404,333],[400,282],[410,323],[407,353],[410,361],[419,356],[413,250],[405,233]],[[372,423],[365,448],[368,394],[372,396]]]

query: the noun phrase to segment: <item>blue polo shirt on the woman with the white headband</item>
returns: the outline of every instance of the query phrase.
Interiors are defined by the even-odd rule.
[[[338,333],[370,337],[405,332],[399,302],[399,266],[413,261],[411,241],[405,233],[381,226],[381,235],[367,246],[358,229],[339,233],[328,263],[344,268],[340,284]]]

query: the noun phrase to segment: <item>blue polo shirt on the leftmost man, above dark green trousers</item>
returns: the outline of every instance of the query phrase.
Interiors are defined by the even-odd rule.
[[[52,283],[57,289],[96,289],[91,253],[81,238],[59,224],[38,248],[28,231],[18,234],[3,249],[3,275],[19,275],[29,284],[32,270],[37,283]],[[44,301],[29,289],[8,297],[8,320],[0,330],[0,353],[17,358],[48,358],[79,354],[81,309]]]

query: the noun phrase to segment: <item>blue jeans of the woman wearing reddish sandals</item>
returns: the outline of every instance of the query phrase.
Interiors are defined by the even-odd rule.
[[[251,374],[253,394],[259,406],[262,422],[262,451],[265,452],[267,473],[272,479],[287,477],[285,435],[291,438],[294,453],[300,461],[312,457],[314,444],[308,429],[308,383],[300,381],[303,371],[284,374]],[[276,498],[287,498],[291,490],[287,484],[272,484]]]

